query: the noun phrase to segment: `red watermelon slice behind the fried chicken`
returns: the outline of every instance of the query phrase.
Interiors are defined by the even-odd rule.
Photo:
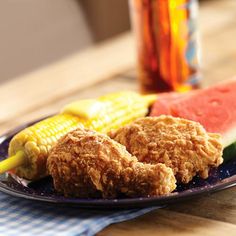
[[[168,114],[197,121],[208,132],[220,133],[224,147],[236,141],[236,78],[177,99],[171,97],[160,110],[157,99],[151,115]]]

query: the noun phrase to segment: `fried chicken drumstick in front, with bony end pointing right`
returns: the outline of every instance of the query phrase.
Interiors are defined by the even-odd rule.
[[[58,141],[49,154],[47,168],[56,191],[65,196],[156,196],[176,187],[171,168],[138,162],[107,135],[84,129]]]

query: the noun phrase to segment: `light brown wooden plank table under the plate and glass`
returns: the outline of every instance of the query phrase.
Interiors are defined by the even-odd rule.
[[[236,74],[236,1],[203,1],[203,86]],[[0,133],[80,98],[137,90],[130,33],[0,85]],[[236,235],[236,187],[114,224],[98,235]]]

